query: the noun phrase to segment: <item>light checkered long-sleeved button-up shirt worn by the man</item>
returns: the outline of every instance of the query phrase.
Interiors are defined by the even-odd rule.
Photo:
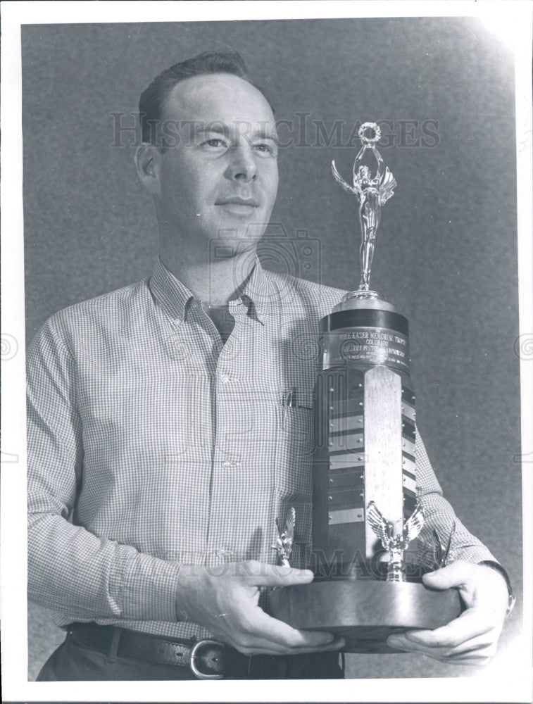
[[[46,322],[27,353],[29,595],[58,625],[201,639],[176,621],[180,569],[276,562],[275,519],[290,506],[295,542],[311,542],[315,341],[342,294],[256,263],[222,345],[158,262]],[[432,562],[432,527],[446,535],[453,520],[455,558],[494,560],[442,498],[421,441],[417,460],[420,562]]]

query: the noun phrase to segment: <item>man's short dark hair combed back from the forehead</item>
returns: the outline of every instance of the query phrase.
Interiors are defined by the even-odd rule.
[[[246,64],[237,51],[203,51],[202,54],[188,58],[170,66],[153,79],[148,88],[141,94],[139,114],[142,125],[142,141],[152,142],[159,130],[153,130],[153,125],[161,126],[165,101],[175,85],[192,76],[212,73],[230,73],[249,83]]]

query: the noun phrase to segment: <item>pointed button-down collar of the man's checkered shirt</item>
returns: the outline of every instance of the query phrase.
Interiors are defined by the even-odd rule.
[[[181,322],[187,320],[187,312],[194,296],[180,279],[165,267],[161,258],[158,258],[153,268],[149,285],[154,298],[170,318]],[[268,312],[268,306],[277,301],[277,289],[272,285],[257,256],[251,275],[238,298],[247,306],[250,318],[261,323]]]

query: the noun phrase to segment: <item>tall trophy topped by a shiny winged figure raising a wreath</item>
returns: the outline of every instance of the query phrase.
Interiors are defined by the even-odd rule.
[[[361,232],[360,284],[320,321],[313,449],[311,584],[274,589],[270,612],[298,629],[344,636],[351,653],[401,652],[392,633],[434,629],[458,617],[458,591],[422,584],[410,543],[424,526],[416,495],[415,394],[410,381],[408,320],[370,289],[381,210],[396,180],[377,151],[380,128],[365,122],[353,184]],[[375,163],[375,171],[368,164]],[[298,515],[277,521],[274,546],[289,565]],[[432,532],[434,567],[450,559],[455,527]],[[443,540],[444,539],[444,540]],[[414,560],[411,559],[414,557]],[[408,559],[409,558],[409,559]]]

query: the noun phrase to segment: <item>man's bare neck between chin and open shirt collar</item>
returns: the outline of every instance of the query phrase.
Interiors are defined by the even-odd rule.
[[[249,279],[255,263],[255,251],[246,251],[234,257],[213,262],[198,262],[187,253],[167,253],[160,258],[165,267],[180,279],[195,298],[210,306],[225,306],[236,298]]]

